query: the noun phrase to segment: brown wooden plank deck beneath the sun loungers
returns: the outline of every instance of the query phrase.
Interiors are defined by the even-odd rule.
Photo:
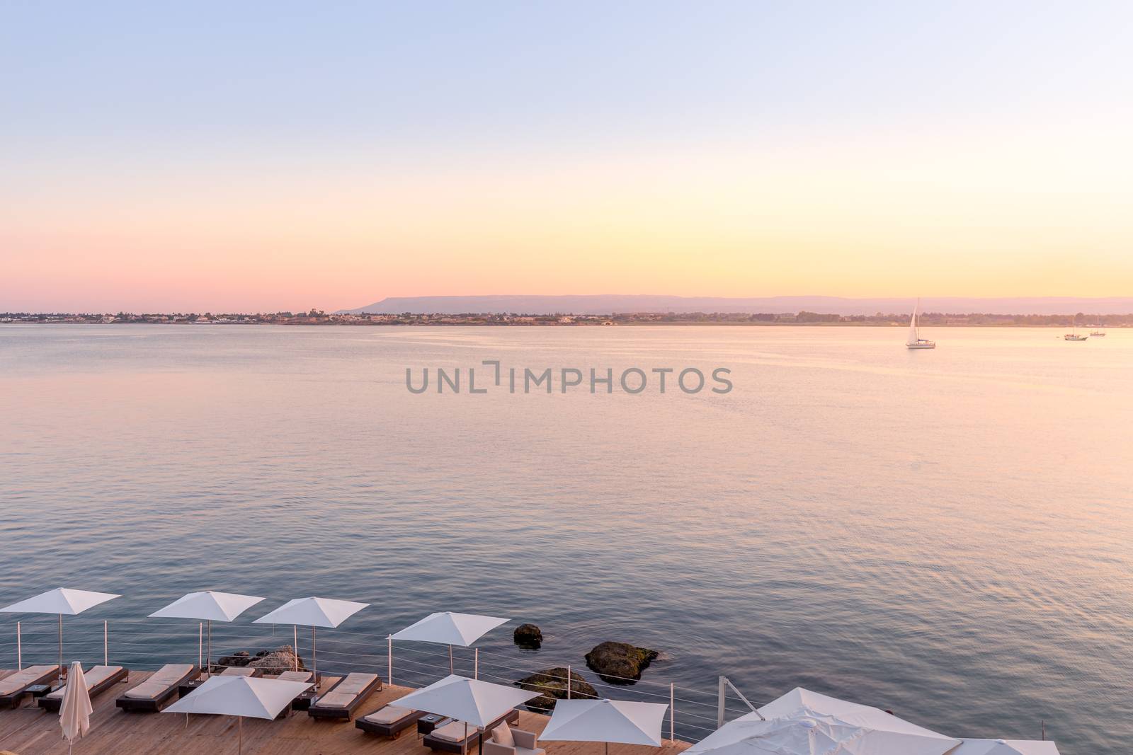
[[[0,678],[10,671],[0,671]],[[91,732],[75,744],[74,755],[228,755],[237,752],[237,721],[228,715],[177,713],[123,713],[114,698],[140,684],[148,674],[131,672],[128,683],[116,685],[94,697]],[[337,681],[325,677],[323,688]],[[386,703],[412,692],[409,687],[386,687],[376,692],[358,709],[366,715]],[[519,728],[542,732],[547,717],[522,711]],[[666,732],[667,733],[667,732]],[[547,755],[603,755],[594,743],[546,743]],[[662,747],[611,745],[611,755],[678,755],[689,743],[665,740]],[[0,711],[0,750],[17,755],[67,755],[67,743],[59,729],[59,717],[45,713],[34,703],[18,710]],[[398,739],[382,739],[356,729],[353,721],[316,721],[299,712],[278,721],[244,720],[244,752],[256,755],[339,755],[340,753],[380,753],[381,755],[432,755],[421,745],[416,729]],[[475,753],[470,749],[469,753]]]

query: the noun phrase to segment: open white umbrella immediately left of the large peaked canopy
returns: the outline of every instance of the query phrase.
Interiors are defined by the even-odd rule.
[[[668,705],[628,700],[560,700],[547,728],[545,741],[602,741],[622,745],[661,746],[661,723]]]

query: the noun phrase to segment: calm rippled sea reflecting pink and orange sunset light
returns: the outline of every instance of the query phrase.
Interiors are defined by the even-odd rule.
[[[663,651],[610,694],[675,681],[688,738],[726,675],[755,702],[801,685],[951,735],[1045,723],[1065,755],[1128,752],[1133,331],[904,335],[0,326],[0,603],[122,593],[68,620],[67,655],[100,660],[109,619],[135,668],[196,660],[195,624],[143,618],[191,590],[269,598],[218,650],[290,642],[250,624],[288,598],[373,603],[320,633],[327,669],[384,669],[385,635],[429,611],[492,614],[513,621],[480,643],[488,678],[594,680],[603,640]],[[735,387],[406,389],[407,367],[482,360],[727,367]],[[16,618],[25,661],[53,659],[54,618],[0,616],[0,667]],[[511,645],[520,621],[542,650]],[[395,680],[448,672],[444,652],[400,643]]]

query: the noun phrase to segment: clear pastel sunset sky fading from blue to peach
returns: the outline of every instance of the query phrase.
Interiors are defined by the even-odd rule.
[[[0,311],[1133,294],[1133,3],[0,3]]]

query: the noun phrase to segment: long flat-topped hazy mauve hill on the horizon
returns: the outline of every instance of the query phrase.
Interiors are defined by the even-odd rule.
[[[613,312],[798,312],[807,310],[823,315],[874,315],[876,312],[912,311],[915,299],[843,299],[840,297],[765,297],[726,299],[721,297],[664,295],[563,295],[542,297],[505,294],[489,297],[390,297],[357,309],[339,314],[372,312],[519,312],[525,315],[608,315]],[[983,312],[988,315],[1126,315],[1133,312],[1133,298],[1080,299],[1073,297],[1036,297],[1017,299],[972,299],[961,297],[927,297],[921,311]]]

